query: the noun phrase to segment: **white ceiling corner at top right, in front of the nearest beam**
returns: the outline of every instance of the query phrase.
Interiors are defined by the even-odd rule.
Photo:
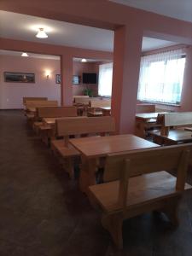
[[[191,0],[109,0],[178,20],[192,22]]]

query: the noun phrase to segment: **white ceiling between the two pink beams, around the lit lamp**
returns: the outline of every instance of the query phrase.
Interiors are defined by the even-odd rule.
[[[35,37],[39,27],[45,28],[48,38]],[[2,10],[0,10],[0,37],[113,51],[113,31]],[[155,38],[143,38],[142,49],[146,51],[172,44],[175,43]]]

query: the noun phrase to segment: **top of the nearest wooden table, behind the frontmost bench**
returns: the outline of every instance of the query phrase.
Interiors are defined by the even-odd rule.
[[[110,153],[128,150],[160,147],[155,143],[150,143],[143,138],[131,134],[74,138],[70,139],[69,142],[87,158],[102,157]]]

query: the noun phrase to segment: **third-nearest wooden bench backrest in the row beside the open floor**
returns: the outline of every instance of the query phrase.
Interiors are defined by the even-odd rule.
[[[75,107],[41,107],[37,108],[38,118],[59,118],[77,116]]]

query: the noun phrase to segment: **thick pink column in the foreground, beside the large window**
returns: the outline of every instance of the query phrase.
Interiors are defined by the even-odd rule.
[[[118,133],[134,133],[142,40],[136,26],[114,32],[112,115]]]

